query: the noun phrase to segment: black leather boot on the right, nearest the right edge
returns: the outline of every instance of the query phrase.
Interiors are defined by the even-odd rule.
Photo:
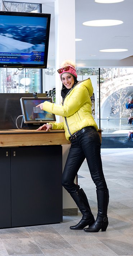
[[[107,206],[109,204],[109,190],[97,190],[97,206],[98,206],[98,214],[96,221],[92,224],[92,226],[88,228],[84,228],[85,232],[98,232],[106,231],[106,228],[109,224],[107,218]]]

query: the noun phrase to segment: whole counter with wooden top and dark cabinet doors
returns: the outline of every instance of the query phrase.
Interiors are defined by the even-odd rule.
[[[0,228],[62,222],[64,144],[64,130],[0,130]]]

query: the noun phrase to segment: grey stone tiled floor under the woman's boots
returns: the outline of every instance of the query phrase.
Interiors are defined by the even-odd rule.
[[[133,256],[133,149],[101,149],[101,156],[110,193],[106,232],[70,230],[80,213],[64,216],[59,224],[0,229],[0,256]],[[96,190],[86,161],[78,180],[96,217]]]

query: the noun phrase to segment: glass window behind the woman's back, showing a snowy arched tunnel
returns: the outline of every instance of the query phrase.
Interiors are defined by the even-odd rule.
[[[133,124],[133,68],[100,68],[100,110],[103,134],[128,134]]]

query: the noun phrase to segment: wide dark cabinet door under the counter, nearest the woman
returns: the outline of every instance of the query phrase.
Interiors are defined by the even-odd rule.
[[[62,221],[62,146],[11,149],[12,227]]]

